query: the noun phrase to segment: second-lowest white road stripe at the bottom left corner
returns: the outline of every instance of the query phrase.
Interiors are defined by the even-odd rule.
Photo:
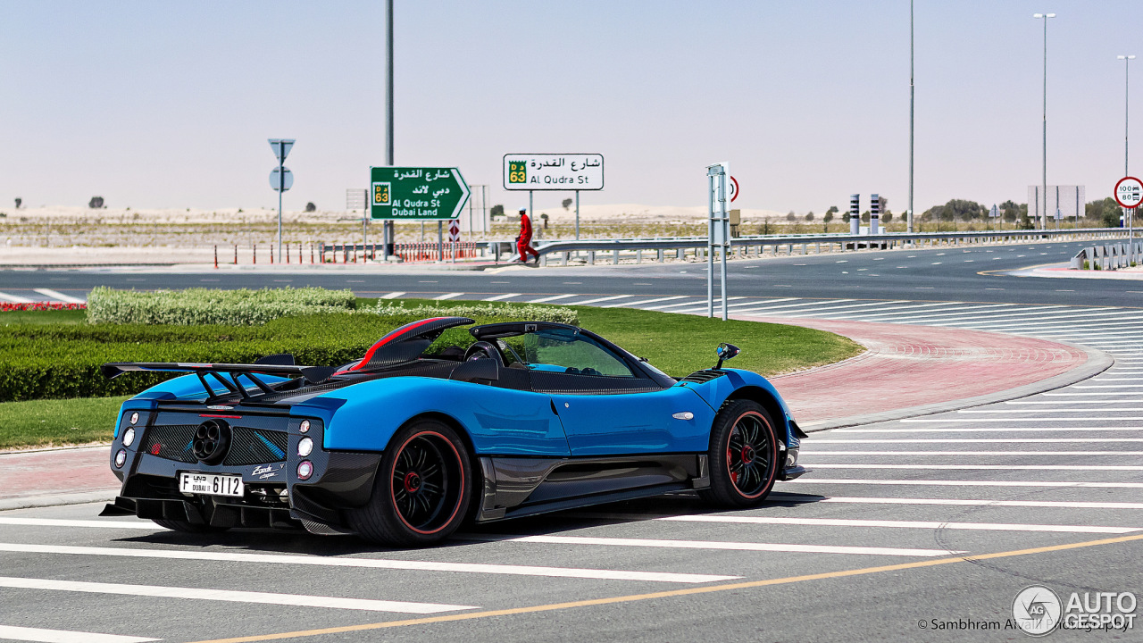
[[[198,589],[193,587],[163,587],[158,585],[121,585],[118,582],[86,582],[47,578],[0,577],[0,587],[14,589],[46,589],[51,592],[82,592],[88,594],[118,594],[149,598],[192,598],[229,603],[258,603],[265,605],[294,605],[298,608],[333,608],[368,612],[400,612],[406,614],[435,614],[457,610],[475,610],[472,605],[441,603],[408,603],[403,601],[371,601],[339,598],[337,596],[307,596],[303,594],[273,594],[269,592],[234,592],[230,589]]]

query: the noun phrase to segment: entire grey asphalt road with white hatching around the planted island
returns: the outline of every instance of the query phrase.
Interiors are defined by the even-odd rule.
[[[1007,626],[1017,593],[1031,585],[1047,586],[1065,605],[1072,593],[1140,597],[1143,312],[1134,308],[1138,294],[1128,291],[1135,286],[976,273],[1073,253],[1052,244],[735,262],[732,288],[746,297],[735,300],[736,310],[1033,334],[1117,359],[1092,380],[1028,398],[815,432],[802,452],[813,471],[780,484],[758,509],[717,511],[693,497],[663,497],[486,525],[443,547],[400,551],[346,537],[187,537],[142,521],[97,518],[90,505],[5,511],[0,640],[55,629],[80,633],[50,638],[59,641],[97,641],[93,633],[181,642],[278,635],[315,642],[997,641],[1024,637]],[[842,260],[848,263],[834,263]],[[692,310],[705,286],[701,272],[690,276],[695,268],[338,275],[322,277],[326,283],[298,275],[293,285],[365,279],[351,287],[463,293],[454,299],[528,294],[504,297],[511,301],[567,295],[553,300],[566,303],[616,297],[596,303]],[[105,279],[69,284],[75,292],[123,285],[106,281],[122,275],[62,275]],[[30,280],[5,281],[0,291],[62,289],[45,286],[45,276],[55,275],[18,273]],[[134,283],[141,287],[201,285],[198,275],[128,277],[182,279]],[[219,276],[213,284],[291,278],[253,277],[262,280]],[[429,280],[435,283],[422,284]],[[784,285],[793,289],[777,289]],[[652,299],[660,302],[647,303]],[[981,303],[933,303],[942,301]],[[992,622],[999,629],[982,629]],[[1052,640],[1140,640],[1141,628],[1056,632]],[[142,638],[105,641],[130,640]]]

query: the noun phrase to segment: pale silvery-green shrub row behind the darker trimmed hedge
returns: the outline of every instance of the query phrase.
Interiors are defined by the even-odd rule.
[[[288,316],[344,311],[357,307],[352,291],[263,288],[261,291],[115,291],[97,287],[87,300],[93,324],[231,326],[265,324]]]

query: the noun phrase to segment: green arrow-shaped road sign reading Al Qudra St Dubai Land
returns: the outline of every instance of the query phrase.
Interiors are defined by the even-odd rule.
[[[370,167],[369,217],[456,219],[469,185],[455,167]]]

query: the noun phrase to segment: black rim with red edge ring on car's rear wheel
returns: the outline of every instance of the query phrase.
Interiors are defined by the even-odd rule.
[[[441,458],[435,462],[439,471],[432,470],[432,462],[429,461],[429,458],[423,461],[411,461],[411,455],[407,457],[408,446],[416,440],[431,440],[437,445],[434,450],[430,451],[435,451],[438,455],[441,455]],[[441,452],[439,447],[441,444],[448,445],[448,448],[443,452]],[[429,451],[424,451],[424,453],[426,457],[429,455]],[[442,510],[447,510],[445,503],[448,501],[449,492],[453,491],[449,487],[451,481],[449,479],[447,473],[449,463],[443,460],[443,457],[447,457],[448,454],[451,454],[453,463],[456,468],[456,502],[453,505],[448,517],[440,521],[440,516],[443,515]],[[405,467],[413,468],[405,469],[402,468],[402,465],[405,465]],[[425,468],[426,466],[429,466],[429,468]],[[437,474],[441,475],[438,476]],[[456,517],[461,507],[464,506],[464,482],[467,478],[464,460],[461,458],[461,453],[456,450],[456,446],[453,445],[453,440],[437,431],[419,431],[409,436],[408,439],[406,439],[397,450],[397,457],[393,458],[393,466],[390,468],[389,477],[390,499],[393,502],[393,509],[395,510],[397,517],[400,518],[405,526],[416,533],[431,535],[443,530],[453,522],[453,518]],[[438,492],[434,492],[434,487],[432,485],[435,484],[437,481],[439,481],[440,489]],[[414,482],[416,483],[415,485]],[[433,493],[439,493],[440,498],[434,499],[432,497]],[[410,507],[419,507],[419,511],[410,511]],[[424,526],[430,523],[438,523],[438,526],[433,529],[421,529],[421,526],[414,525],[409,521],[409,518],[416,516],[417,514],[424,513],[427,513],[429,517],[418,524]]]

